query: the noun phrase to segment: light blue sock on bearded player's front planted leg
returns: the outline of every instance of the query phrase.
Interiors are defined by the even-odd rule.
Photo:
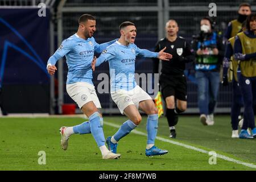
[[[100,113],[95,112],[89,117],[90,132],[96,140],[98,147],[105,146],[105,137],[100,124]]]

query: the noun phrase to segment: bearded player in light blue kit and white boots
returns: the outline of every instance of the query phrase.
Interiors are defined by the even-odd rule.
[[[117,159],[120,154],[110,152],[105,146],[105,137],[102,130],[103,119],[97,108],[101,108],[92,82],[92,60],[94,51],[101,53],[112,42],[98,44],[93,34],[96,31],[96,19],[89,14],[81,15],[79,28],[76,34],[65,39],[59,49],[49,58],[47,70],[53,75],[57,68],[57,60],[65,56],[68,64],[67,92],[79,105],[82,112],[89,118],[89,122],[73,127],[61,127],[61,146],[63,150],[68,148],[68,139],[72,134],[92,133],[103,159]]]

